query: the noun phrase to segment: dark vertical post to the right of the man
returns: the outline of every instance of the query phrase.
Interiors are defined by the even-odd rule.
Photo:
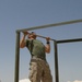
[[[57,42],[54,40],[55,46],[55,73],[56,73],[56,82],[59,82],[59,72],[58,72],[58,52],[57,52]]]

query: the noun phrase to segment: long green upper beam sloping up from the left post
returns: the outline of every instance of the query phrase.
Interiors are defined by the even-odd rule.
[[[67,21],[67,22],[60,22],[60,23],[55,23],[55,24],[48,24],[48,25],[42,25],[42,26],[34,26],[34,27],[30,27],[30,28],[22,28],[22,30],[17,30],[17,32],[46,28],[46,27],[52,27],[52,26],[60,26],[60,25],[66,25],[66,24],[80,23],[80,22],[82,22],[82,19],[81,20]]]

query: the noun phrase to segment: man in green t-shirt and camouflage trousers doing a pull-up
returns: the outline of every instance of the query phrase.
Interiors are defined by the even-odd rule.
[[[25,39],[27,35],[27,39]],[[50,52],[50,38],[46,37],[46,46],[38,39],[37,35],[32,32],[23,32],[20,42],[20,48],[27,47],[31,52],[30,80],[31,82],[52,82],[49,65],[46,61],[46,52]]]

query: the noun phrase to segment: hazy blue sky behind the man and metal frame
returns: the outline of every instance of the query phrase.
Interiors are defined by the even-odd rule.
[[[14,82],[15,31],[82,20],[82,0],[0,0],[0,80]],[[31,31],[30,31],[31,32]],[[56,40],[82,37],[82,23],[35,30]],[[22,35],[22,34],[21,34]],[[44,38],[37,37],[44,44]],[[54,42],[47,61],[55,82]],[[28,78],[30,52],[20,49],[20,80]],[[82,81],[82,42],[58,44],[59,82]]]

